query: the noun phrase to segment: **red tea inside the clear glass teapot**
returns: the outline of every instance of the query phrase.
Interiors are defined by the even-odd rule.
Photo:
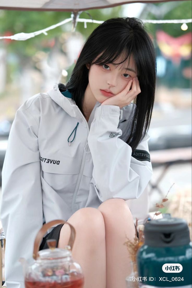
[[[84,278],[79,278],[64,283],[39,282],[25,280],[25,288],[83,288]]]

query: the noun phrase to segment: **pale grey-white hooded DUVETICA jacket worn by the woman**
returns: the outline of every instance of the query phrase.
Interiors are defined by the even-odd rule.
[[[87,123],[69,91],[55,85],[18,109],[2,171],[7,288],[24,288],[18,260],[32,258],[43,221],[68,220],[80,208],[138,198],[145,190],[152,175],[149,136],[134,157],[124,142],[133,108],[96,102]]]

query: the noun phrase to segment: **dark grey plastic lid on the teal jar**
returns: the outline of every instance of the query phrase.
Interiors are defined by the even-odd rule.
[[[145,223],[145,245],[174,247],[190,243],[189,227],[184,219],[162,218]]]

